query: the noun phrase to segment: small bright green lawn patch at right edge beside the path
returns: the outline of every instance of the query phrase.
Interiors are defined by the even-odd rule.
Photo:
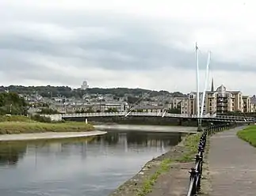
[[[238,137],[256,147],[256,126],[251,125],[237,133]]]

